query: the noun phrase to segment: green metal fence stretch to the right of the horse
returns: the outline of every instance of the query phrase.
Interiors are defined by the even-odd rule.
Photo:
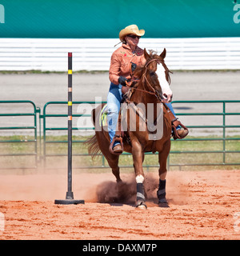
[[[214,117],[214,116],[218,116],[220,118],[222,118],[222,123],[218,124],[218,125],[214,125],[213,124],[213,120],[212,122],[210,122],[210,124],[207,125],[187,125],[188,128],[190,130],[204,130],[204,129],[211,129],[211,130],[219,130],[222,133],[222,136],[216,136],[216,138],[214,138],[214,136],[212,138],[189,138],[186,137],[184,140],[182,141],[176,141],[174,143],[187,143],[187,142],[221,142],[218,143],[218,150],[171,150],[170,151],[170,156],[168,158],[168,166],[178,166],[180,169],[182,166],[238,166],[240,165],[240,147],[237,146],[237,148],[239,148],[239,150],[230,150],[227,148],[227,142],[238,142],[239,145],[239,141],[240,141],[240,112],[233,112],[233,111],[227,111],[227,106],[230,106],[232,104],[235,105],[235,109],[238,109],[238,111],[240,110],[240,101],[175,101],[173,102],[173,106],[176,106],[178,103],[182,104],[183,106],[192,104],[192,105],[203,105],[205,106],[206,110],[209,110],[209,112],[205,111],[199,111],[198,113],[177,113],[178,118],[182,118],[182,116],[186,116],[186,117],[198,117],[198,118],[205,118],[207,116],[210,117]],[[211,111],[211,108],[218,104],[220,110],[218,111]],[[236,117],[233,118],[232,122],[234,121],[234,124],[227,124],[227,117]],[[230,129],[235,129],[235,133],[237,135],[234,136],[230,136],[228,133],[227,134],[227,130]],[[211,137],[211,136],[209,136]],[[229,147],[229,146],[228,146]],[[230,147],[229,147],[230,148]],[[172,156],[174,154],[181,154],[181,155],[187,155],[187,154],[218,154],[220,155],[221,159],[218,159],[218,162],[193,162],[193,163],[172,163],[170,161],[170,159],[172,158]],[[238,154],[237,157],[235,157],[234,159],[237,159],[236,162],[230,162],[230,159],[227,158],[227,156],[230,156],[232,154]]]

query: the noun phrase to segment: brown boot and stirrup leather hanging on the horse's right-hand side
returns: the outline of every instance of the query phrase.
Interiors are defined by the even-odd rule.
[[[168,106],[166,106],[165,103],[163,105],[166,107],[166,111],[170,116],[170,120],[172,123],[172,135],[174,139],[182,139],[185,138],[186,135],[189,133],[189,130],[174,116],[172,111]],[[183,129],[178,129],[178,127],[181,126]]]

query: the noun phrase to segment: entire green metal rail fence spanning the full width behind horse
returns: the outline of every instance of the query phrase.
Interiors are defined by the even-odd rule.
[[[91,108],[95,104],[100,102],[73,102],[74,112],[73,120],[77,118],[90,118],[90,113],[86,111],[79,112],[76,108],[82,104],[90,104]],[[44,166],[48,168],[46,159],[66,157],[66,151],[54,151],[48,152],[48,148],[52,145],[67,145],[67,102],[47,102],[41,113],[40,108],[36,107],[34,102],[31,101],[0,101],[2,106],[11,106],[11,113],[0,113],[0,132],[10,131],[10,134],[15,130],[31,131],[32,136],[0,136],[0,169],[37,169],[38,166]],[[14,108],[15,106],[15,108]],[[19,106],[28,106],[30,110],[20,111]],[[174,110],[178,118],[190,129],[190,134],[183,140],[172,139],[171,150],[168,158],[168,169],[178,168],[183,166],[239,166],[240,165],[240,101],[175,101],[173,102]],[[204,106],[204,107],[202,107]],[[53,113],[51,109],[55,107],[58,113]],[[62,110],[59,110],[61,109]],[[3,108],[1,108],[2,110]],[[77,109],[78,110],[78,109]],[[3,110],[2,110],[3,111]],[[181,111],[181,112],[180,112]],[[66,112],[66,113],[65,113]],[[22,125],[19,119],[13,118],[33,117],[30,126]],[[4,118],[11,118],[8,120],[10,125],[6,126],[5,122],[2,122]],[[50,118],[62,118],[66,120],[66,127],[64,122],[49,122]],[[195,118],[195,119],[194,119]],[[197,119],[196,119],[197,118]],[[202,123],[198,123],[198,121]],[[24,123],[24,122],[22,122]],[[37,124],[39,125],[37,126]],[[54,126],[53,126],[54,123]],[[194,125],[193,125],[194,123]],[[14,125],[12,125],[14,124]],[[43,126],[43,129],[42,129]],[[76,123],[73,126],[73,132],[84,134],[85,131],[92,131],[94,127],[90,126],[78,127]],[[217,131],[217,133],[214,132]],[[26,134],[27,134],[26,132]],[[50,132],[51,135],[48,134]],[[63,137],[58,137],[58,132],[63,132]],[[199,135],[199,132],[202,134]],[[209,134],[209,135],[208,135]],[[42,136],[43,135],[43,136]],[[80,136],[81,137],[81,136]],[[60,138],[60,139],[59,139]],[[64,139],[62,139],[64,138]],[[86,148],[81,147],[82,142],[86,140],[86,137],[82,135],[80,139],[73,139],[73,146],[79,148],[77,153],[74,153],[75,158],[86,158],[90,155],[87,153]],[[20,150],[15,152],[14,150],[6,150],[10,145],[33,145],[31,152]],[[11,148],[10,148],[11,149]],[[23,146],[24,149],[24,146]],[[82,150],[83,149],[83,150]],[[82,150],[82,151],[81,151]],[[74,169],[100,169],[108,168],[106,159],[100,154],[100,160],[98,164],[91,165],[74,165]],[[132,158],[130,154],[124,153],[121,158],[126,158],[124,164],[121,167],[132,167]],[[10,167],[2,164],[2,158],[12,158],[12,162],[18,161],[18,158],[33,158],[32,165],[17,165]],[[147,158],[150,160],[148,161]],[[27,163],[30,161],[26,161]],[[151,167],[158,167],[157,154],[146,153],[146,161],[144,167],[149,169]],[[51,169],[53,166],[51,166]],[[59,167],[56,167],[59,168]]]

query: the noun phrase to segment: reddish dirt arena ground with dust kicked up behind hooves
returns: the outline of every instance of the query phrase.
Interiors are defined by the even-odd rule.
[[[65,198],[66,175],[0,175],[0,239],[240,238],[240,170],[170,171],[169,208],[158,207],[158,175],[148,173],[147,210],[134,208],[133,174],[122,180],[119,188],[112,174],[75,174],[74,198],[86,203],[63,206],[54,199]]]

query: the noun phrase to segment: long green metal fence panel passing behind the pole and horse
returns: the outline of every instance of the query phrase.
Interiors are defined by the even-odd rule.
[[[95,104],[96,102],[73,102],[73,105],[77,105],[77,104],[82,104],[82,103],[86,103],[86,104]],[[44,109],[43,109],[43,115],[42,115],[42,118],[43,118],[43,135],[44,135],[44,152],[43,152],[43,158],[44,158],[44,162],[46,163],[46,158],[48,157],[54,157],[54,156],[66,156],[66,154],[46,154],[46,146],[51,144],[51,143],[67,143],[67,141],[47,141],[46,140],[46,131],[47,130],[67,130],[67,128],[63,128],[63,127],[47,127],[46,126],[46,119],[47,118],[60,118],[60,117],[67,117],[67,114],[46,114],[46,107],[47,106],[50,106],[50,105],[57,105],[57,104],[61,104],[61,105],[67,105],[67,102],[47,102],[46,105],[44,106]],[[178,109],[179,107],[177,107],[178,105],[181,105],[181,109],[186,109],[185,111],[183,111],[182,113],[179,113],[177,112],[177,116],[178,118],[182,118],[183,116],[185,117],[198,117],[198,118],[204,118],[206,116],[210,116],[210,117],[214,117],[214,116],[218,116],[222,119],[222,123],[220,124],[213,124],[212,122],[208,123],[208,124],[204,124],[204,125],[191,125],[190,121],[189,122],[184,122],[186,124],[186,126],[188,126],[190,128],[190,135],[191,135],[191,131],[194,131],[194,130],[206,130],[206,129],[211,129],[211,130],[214,130],[214,129],[220,129],[222,131],[222,135],[218,135],[217,137],[207,137],[207,136],[203,136],[201,138],[201,136],[197,136],[195,138],[193,137],[190,137],[190,135],[185,138],[184,140],[177,140],[177,141],[174,141],[172,139],[172,146],[174,148],[174,145],[176,143],[182,143],[182,150],[174,150],[172,149],[170,151],[170,156],[168,158],[168,168],[170,169],[170,167],[174,167],[174,166],[178,166],[178,168],[181,169],[182,166],[238,166],[240,165],[240,162],[239,161],[235,161],[235,162],[230,162],[229,159],[227,158],[227,156],[229,154],[239,154],[240,153],[240,150],[228,150],[227,147],[226,147],[226,143],[227,142],[230,142],[230,141],[235,141],[235,142],[238,142],[240,140],[240,137],[239,136],[234,136],[234,137],[230,137],[230,136],[227,136],[226,134],[226,130],[227,129],[239,129],[240,128],[240,123],[239,124],[234,124],[234,125],[228,125],[226,123],[226,117],[228,116],[239,116],[240,113],[238,112],[231,112],[231,111],[226,111],[226,106],[228,104],[240,104],[240,101],[175,101],[173,102],[173,106],[175,108],[176,106],[176,109]],[[209,112],[201,112],[201,111],[195,111],[195,112],[190,112],[189,111],[189,108],[186,107],[186,106],[189,106],[189,105],[192,105],[192,106],[196,106],[196,105],[212,105],[210,106],[209,108],[206,108],[208,110],[210,110]],[[214,105],[220,105],[221,106],[221,110],[218,110],[218,111],[212,111],[211,108],[214,106]],[[238,107],[238,109],[240,109]],[[200,108],[201,110],[201,108]],[[73,114],[73,118],[78,118],[78,117],[90,117],[90,114]],[[93,130],[94,128],[93,127],[73,127],[73,130]],[[237,134],[238,131],[237,131]],[[78,140],[78,141],[73,141],[73,143],[82,143],[84,142],[84,140]],[[187,143],[190,143],[190,142],[194,142],[194,145],[196,145],[198,142],[221,142],[221,144],[218,144],[218,149],[210,149],[210,150],[193,150],[192,148],[186,150],[185,147],[187,146]],[[186,146],[185,146],[186,145]],[[191,146],[191,145],[190,145]],[[203,159],[201,159],[201,162],[184,162],[185,161],[185,158],[187,155],[194,155],[194,154],[198,154],[198,155],[203,155]],[[221,155],[221,161],[218,159],[218,162],[204,162],[205,160],[205,157],[204,155],[210,155],[210,154],[218,154],[218,155]],[[73,154],[74,156],[89,156],[89,154]],[[122,154],[122,156],[126,156],[126,155],[129,155],[127,153],[124,153]],[[146,155],[152,155],[151,153],[146,153]],[[174,163],[174,157],[178,155],[178,158],[177,158],[177,161],[178,162],[175,162]],[[184,157],[182,157],[184,156]],[[179,160],[178,160],[179,159]],[[173,161],[172,161],[173,160]],[[195,159],[196,160],[196,159]],[[144,167],[146,167],[147,169],[148,168],[151,168],[151,167],[158,167],[158,161],[154,161],[156,162],[155,164],[145,164]],[[101,165],[98,165],[98,166],[74,166],[74,168],[76,169],[90,169],[90,168],[107,168],[108,165],[107,165],[107,162],[105,160],[105,158],[102,156],[102,164]],[[124,165],[124,166],[121,166],[121,167],[125,167],[125,168],[129,168],[129,167],[132,167],[132,165]]]

